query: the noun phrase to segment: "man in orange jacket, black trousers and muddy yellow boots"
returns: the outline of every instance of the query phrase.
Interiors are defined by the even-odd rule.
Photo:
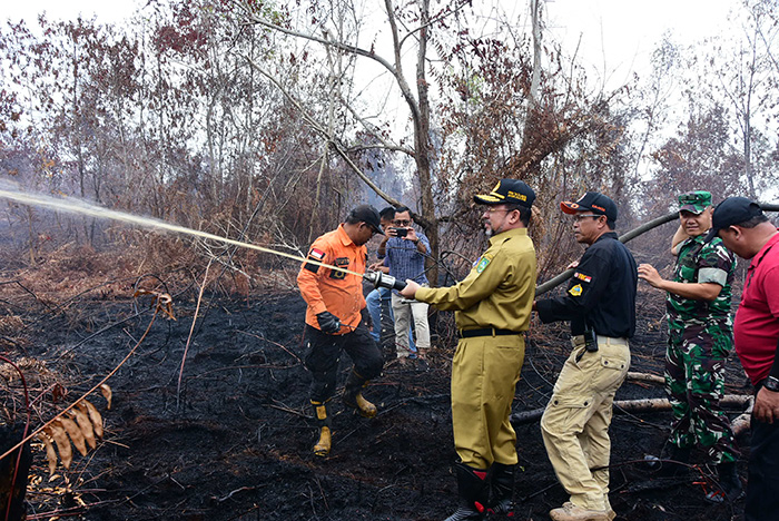
[[[343,351],[354,362],[344,389],[344,403],[364,417],[376,415],[376,406],[363,397],[361,390],[381,374],[382,352],[368,333],[367,313],[363,313],[363,278],[355,274],[365,273],[365,243],[377,233],[383,232],[376,208],[368,205],[354,208],[345,223],[314,240],[308,250],[308,259],[354,273],[305,263],[297,275],[300,294],[308,304],[305,364],[313,377],[310,402],[319,430],[314,454],[319,456],[331,451],[327,402],[335,394]]]

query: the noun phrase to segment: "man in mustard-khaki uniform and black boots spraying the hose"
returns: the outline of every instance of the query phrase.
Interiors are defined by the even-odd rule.
[[[482,218],[490,247],[452,287],[407,279],[401,294],[455,311],[460,342],[452,363],[452,426],[460,462],[458,509],[447,521],[480,520],[489,511],[513,515],[516,434],[509,422],[524,361],[524,336],[535,292],[535,249],[527,236],[533,190],[501,179]]]

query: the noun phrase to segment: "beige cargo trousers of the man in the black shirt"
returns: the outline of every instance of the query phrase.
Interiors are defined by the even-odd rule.
[[[541,434],[558,480],[571,502],[589,510],[609,508],[609,458],[614,393],[630,367],[625,338],[598,336],[598,351],[574,343],[541,419]]]

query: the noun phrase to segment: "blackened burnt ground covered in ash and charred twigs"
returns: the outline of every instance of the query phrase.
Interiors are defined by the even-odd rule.
[[[131,284],[126,289],[131,295]],[[661,374],[662,299],[641,295],[632,371]],[[116,367],[151,318],[148,311],[134,317],[145,307],[131,297],[101,298],[99,292],[65,307],[43,307],[31,298],[21,305],[23,293],[16,299],[0,296],[6,312],[24,323],[18,332],[24,342],[10,344],[7,356],[47,361],[65,382],[65,402]],[[336,396],[331,405],[334,446],[323,460],[310,452],[315,430],[309,376],[302,364],[305,305],[299,294],[275,291],[243,299],[206,294],[177,393],[196,297],[191,287],[176,295],[177,321],[157,317],[110,379],[110,411],[102,409],[102,399],[93,399],[103,413],[103,442],[87,458],[77,455],[68,472],[58,469],[51,483],[31,488],[30,519],[50,519],[55,510],[63,519],[95,521],[442,520],[451,513],[456,483],[450,314],[432,317],[437,334],[428,371],[389,366],[372,383],[366,396],[379,406],[377,417],[361,419]],[[533,324],[514,411],[546,403],[566,354],[564,331]],[[345,357],[342,384],[348,367]],[[749,392],[734,355],[729,392]],[[657,384],[628,382],[617,399],[661,396]],[[707,503],[704,484],[659,480],[639,463],[644,454],[658,453],[669,420],[669,412],[614,415],[611,500],[618,519],[740,519],[742,500]],[[548,511],[566,495],[546,459],[538,421],[515,429],[516,519],[549,519]],[[746,455],[748,440],[740,442]],[[742,476],[745,471],[742,458]],[[41,450],[34,451],[32,473],[48,474]],[[63,493],[68,488],[72,493]]]

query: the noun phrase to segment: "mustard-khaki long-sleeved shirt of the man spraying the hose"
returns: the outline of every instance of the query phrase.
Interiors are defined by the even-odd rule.
[[[490,238],[490,247],[461,283],[421,287],[416,299],[454,309],[460,330],[527,331],[535,295],[535,249],[526,228]]]

